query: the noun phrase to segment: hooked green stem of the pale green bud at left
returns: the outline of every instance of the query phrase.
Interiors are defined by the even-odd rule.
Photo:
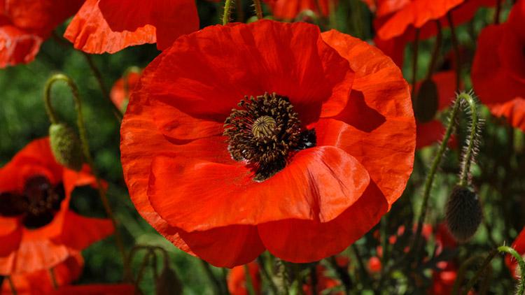
[[[115,219],[115,216],[113,215],[113,210],[111,210],[111,206],[109,206],[109,200],[106,196],[106,191],[104,190],[104,187],[102,187],[102,180],[99,178],[99,174],[97,173],[97,168],[94,166],[94,161],[90,154],[90,147],[87,142],[87,132],[85,129],[85,123],[82,115],[82,102],[80,100],[80,94],[78,93],[78,87],[76,86],[75,82],[71,80],[66,75],[63,74],[56,74],[53,75],[51,78],[49,78],[48,82],[45,83],[45,94],[44,94],[44,102],[45,102],[45,110],[48,113],[50,121],[55,124],[58,122],[57,117],[55,115],[55,112],[51,105],[51,88],[52,85],[57,81],[64,81],[66,82],[69,89],[71,89],[71,94],[73,94],[73,99],[75,101],[75,111],[76,111],[76,125],[78,127],[78,135],[80,136],[80,145],[82,146],[82,153],[84,156],[85,161],[87,162],[87,165],[90,166],[92,174],[94,175],[94,178],[97,182],[97,189],[99,192],[100,199],[102,201],[102,205],[104,206],[104,210],[106,210],[106,215],[108,215],[109,219],[113,223],[113,227],[115,228],[115,240],[118,247],[118,250],[120,251],[120,254],[122,254],[123,257],[123,266],[125,271],[125,279],[127,280],[130,278],[130,266],[127,263],[127,256],[124,248],[123,238],[120,235],[120,231],[118,231],[117,222]]]

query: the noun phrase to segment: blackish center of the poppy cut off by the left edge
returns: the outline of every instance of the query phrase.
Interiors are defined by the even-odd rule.
[[[22,224],[36,229],[49,224],[64,200],[62,184],[53,187],[48,178],[38,175],[25,182],[23,194],[0,193],[0,216],[22,217]]]

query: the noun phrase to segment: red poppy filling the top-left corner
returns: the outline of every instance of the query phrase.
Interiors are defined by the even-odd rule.
[[[76,13],[82,0],[3,0],[0,4],[0,68],[33,61],[51,31]]]

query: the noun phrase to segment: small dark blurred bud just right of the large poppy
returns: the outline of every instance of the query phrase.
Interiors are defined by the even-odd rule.
[[[422,123],[433,120],[438,107],[439,96],[435,82],[433,80],[424,80],[414,101],[414,115],[416,119]]]

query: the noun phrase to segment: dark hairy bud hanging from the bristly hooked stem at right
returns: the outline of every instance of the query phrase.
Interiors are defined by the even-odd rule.
[[[446,221],[450,233],[459,242],[474,236],[483,218],[477,194],[468,187],[456,186],[447,201]]]

